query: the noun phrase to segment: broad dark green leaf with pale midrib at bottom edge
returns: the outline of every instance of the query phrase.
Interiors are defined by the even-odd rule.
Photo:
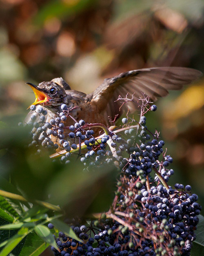
[[[48,246],[49,244],[44,242],[36,233],[29,233],[18,256],[38,256]]]

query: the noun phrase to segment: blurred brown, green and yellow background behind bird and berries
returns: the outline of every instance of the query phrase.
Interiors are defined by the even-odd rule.
[[[204,0],[0,0],[0,118],[17,125],[35,97],[26,82],[63,77],[90,93],[133,69],[204,72]],[[204,79],[171,92],[149,113],[174,159],[170,184],[204,202]],[[136,115],[135,115],[136,116]],[[204,206],[204,204],[202,204]]]

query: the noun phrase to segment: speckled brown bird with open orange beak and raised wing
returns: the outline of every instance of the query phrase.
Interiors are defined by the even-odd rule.
[[[41,105],[47,110],[46,122],[59,116],[61,105],[66,104],[76,121],[80,119],[87,123],[111,125],[111,120],[117,120],[123,112],[133,113],[140,108],[137,100],[129,101],[120,109],[118,97],[125,98],[127,93],[135,98],[149,96],[155,102],[158,97],[169,94],[169,90],[180,90],[183,86],[195,82],[202,72],[184,67],[155,67],[123,72],[115,77],[106,78],[92,93],[86,94],[71,90],[62,77],[49,82],[41,82],[38,86],[27,83],[35,93],[33,105]],[[30,113],[26,118],[29,122]],[[74,121],[67,118],[66,127]]]

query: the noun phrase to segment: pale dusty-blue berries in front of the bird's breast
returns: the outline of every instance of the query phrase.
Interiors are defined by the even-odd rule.
[[[29,147],[36,147],[40,153],[41,147],[46,147],[49,150],[66,150],[67,154],[62,156],[62,161],[67,160],[71,150],[78,148],[77,144],[84,142],[88,150],[92,150],[95,144],[93,137],[94,131],[88,129],[84,120],[77,122],[70,116],[70,110],[65,104],[62,104],[62,111],[55,118],[51,118],[53,114],[47,113],[42,106],[31,105],[29,113],[29,122],[27,125],[33,126],[31,131],[32,141]],[[49,111],[49,110],[48,110]],[[74,125],[65,127],[64,122],[67,118],[74,120]],[[86,128],[83,129],[83,127]]]

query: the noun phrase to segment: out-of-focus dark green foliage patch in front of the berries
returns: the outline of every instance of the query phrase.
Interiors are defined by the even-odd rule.
[[[0,137],[0,147],[7,147],[0,158],[0,189],[20,194],[29,202],[60,205],[69,218],[109,210],[118,172],[112,168],[83,172],[77,154],[69,165],[53,162],[47,151],[36,154],[26,146],[31,140],[28,127],[0,129]]]

